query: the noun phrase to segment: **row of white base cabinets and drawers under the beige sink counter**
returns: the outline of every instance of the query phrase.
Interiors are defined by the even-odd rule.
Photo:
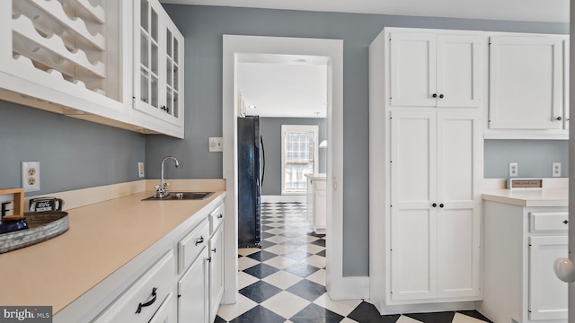
[[[203,214],[203,215],[202,215]],[[79,308],[78,322],[130,323],[212,323],[224,294],[224,205],[200,211],[164,239],[146,249],[142,258],[133,259],[125,267],[125,275],[108,278],[101,286],[114,289],[129,284],[125,291],[95,292]],[[149,264],[149,265],[146,265]],[[142,270],[142,266],[149,266]],[[125,268],[119,269],[119,272]],[[136,274],[141,273],[141,274]],[[139,275],[139,276],[137,276]],[[137,278],[133,278],[137,276]],[[119,295],[119,296],[118,296]],[[91,303],[94,299],[110,304]],[[94,310],[92,307],[103,310]],[[91,314],[91,312],[96,312]],[[93,319],[95,317],[95,319]],[[55,317],[55,322],[67,322]]]

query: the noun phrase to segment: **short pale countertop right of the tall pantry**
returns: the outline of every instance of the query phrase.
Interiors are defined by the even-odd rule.
[[[520,206],[569,206],[568,188],[490,188],[482,199]]]

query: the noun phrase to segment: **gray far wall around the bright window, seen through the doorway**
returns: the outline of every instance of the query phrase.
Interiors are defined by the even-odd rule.
[[[266,175],[261,195],[281,195],[281,125],[314,125],[319,123],[319,142],[326,136],[325,119],[260,118],[260,131],[266,149]],[[319,172],[326,171],[326,150],[319,149]]]

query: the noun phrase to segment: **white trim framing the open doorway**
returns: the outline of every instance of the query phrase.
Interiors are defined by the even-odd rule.
[[[222,129],[224,137],[223,175],[226,179],[226,216],[224,233],[228,241],[226,255],[237,249],[237,84],[235,69],[238,55],[307,55],[327,57],[327,240],[326,283],[330,295],[345,295],[343,284],[343,40],[297,39],[287,37],[223,36]],[[243,53],[243,54],[242,54]],[[234,303],[237,295],[237,257],[226,257],[224,304]]]

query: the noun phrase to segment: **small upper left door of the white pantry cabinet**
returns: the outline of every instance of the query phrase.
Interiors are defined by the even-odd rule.
[[[390,37],[392,106],[435,107],[435,34],[393,32]]]

